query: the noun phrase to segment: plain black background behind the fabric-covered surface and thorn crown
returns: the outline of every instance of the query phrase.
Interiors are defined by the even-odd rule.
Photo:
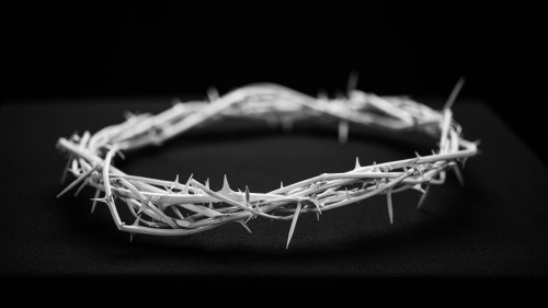
[[[545,158],[540,11],[523,1],[20,3],[4,11],[2,96],[203,96],[263,81],[334,96],[357,71],[362,90],[443,100],[465,76],[461,95],[487,101]]]

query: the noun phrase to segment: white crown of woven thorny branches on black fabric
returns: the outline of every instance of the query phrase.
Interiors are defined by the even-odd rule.
[[[425,199],[431,184],[443,184],[447,170],[454,170],[463,183],[457,161],[478,153],[478,142],[460,137],[461,127],[453,119],[450,106],[463,87],[461,78],[445,106],[435,111],[403,96],[378,96],[350,89],[347,98],[330,100],[312,98],[278,84],[252,84],[219,96],[208,92],[208,101],[175,103],[164,112],[129,114],[118,125],[105,127],[91,135],[59,138],[58,148],[67,152],[64,172],[76,176],[58,196],[79,185],[96,190],[92,198],[93,213],[98,202],[109,206],[119,230],[156,236],[187,236],[239,223],[246,229],[255,217],[292,219],[287,247],[297,218],[302,213],[317,213],[385,194],[390,224],[393,221],[391,195],[409,189],[422,192],[418,208]],[[439,140],[430,156],[419,156],[372,166],[361,166],[340,173],[323,173],[267,193],[232,191],[225,176],[220,191],[209,189],[209,181],[190,179],[184,183],[157,180],[124,173],[112,166],[115,153],[150,145],[161,145],[184,132],[212,123],[214,119],[240,118],[279,119],[282,124],[307,118],[332,117],[339,121],[339,139],[345,142],[349,123],[391,132],[419,130]],[[62,181],[62,180],[61,180]],[[357,186],[361,187],[355,187]],[[350,189],[349,189],[350,187]],[[103,197],[100,195],[103,194]],[[135,221],[122,221],[118,206],[126,205]],[[171,209],[171,210],[170,210]],[[319,219],[319,216],[318,216]],[[251,232],[251,231],[250,231]],[[286,247],[286,248],[287,248]]]

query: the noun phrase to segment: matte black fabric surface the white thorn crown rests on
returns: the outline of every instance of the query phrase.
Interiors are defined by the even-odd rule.
[[[435,100],[426,100],[429,104]],[[56,198],[66,160],[59,137],[123,121],[126,110],[157,113],[170,100],[87,101],[77,104],[4,104],[0,109],[2,193],[0,276],[3,280],[121,277],[208,278],[274,282],[534,282],[548,276],[548,172],[484,104],[457,102],[454,114],[465,138],[481,139],[481,155],[463,171],[433,186],[422,210],[420,193],[393,196],[395,223],[386,199],[316,215],[302,215],[285,249],[290,221],[255,218],[252,233],[231,224],[190,237],[152,237],[116,229],[105,206],[90,214],[84,189]],[[435,141],[413,134],[379,135],[351,126],[340,146],[333,124],[297,124],[293,134],[264,123],[219,122],[168,142],[127,153],[116,167],[127,173],[173,180],[191,173],[220,189],[227,174],[233,190],[267,192],[323,172],[429,155]],[[70,176],[69,180],[70,181]],[[126,224],[133,218],[119,206]],[[222,283],[219,283],[222,284]],[[247,283],[253,287],[253,283]],[[225,286],[228,286],[227,284]],[[235,287],[232,285],[232,287]],[[255,286],[256,287],[256,286]],[[332,285],[332,287],[336,287]],[[236,287],[235,287],[236,288]]]

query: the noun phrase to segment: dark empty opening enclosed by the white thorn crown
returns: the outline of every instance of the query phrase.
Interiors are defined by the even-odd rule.
[[[339,142],[335,122],[295,123],[290,132],[253,121],[224,119],[194,128],[167,141],[126,153],[114,166],[132,175],[185,182],[191,174],[209,179],[220,190],[226,174],[230,187],[266,193],[322,173],[431,155],[435,140],[418,132],[379,132],[350,125],[349,139]]]

